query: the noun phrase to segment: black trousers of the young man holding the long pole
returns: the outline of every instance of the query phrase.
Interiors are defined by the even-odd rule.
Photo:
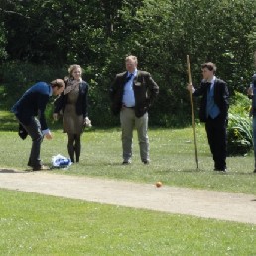
[[[226,120],[221,116],[215,119],[208,118],[205,123],[205,129],[208,137],[210,151],[213,155],[214,168],[223,170],[226,168]]]

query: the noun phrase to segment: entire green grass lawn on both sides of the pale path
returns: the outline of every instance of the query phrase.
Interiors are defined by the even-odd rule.
[[[14,130],[14,121],[8,118],[8,127]],[[23,141],[6,125],[1,128],[2,123],[1,167],[26,170],[30,138]],[[61,130],[53,134],[52,141],[42,144],[42,159],[49,165],[52,156],[67,156],[66,135]],[[196,135],[198,170],[192,128],[150,129],[150,165],[141,163],[134,133],[129,166],[121,165],[120,129],[94,128],[82,136],[80,163],[51,172],[256,194],[252,154],[228,158],[228,174],[216,173],[204,128],[197,126]],[[8,190],[0,190],[0,201],[0,255],[256,255],[252,224]]]

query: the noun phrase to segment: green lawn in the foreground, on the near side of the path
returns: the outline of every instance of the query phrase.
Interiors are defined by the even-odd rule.
[[[255,255],[255,225],[0,190],[1,255]]]

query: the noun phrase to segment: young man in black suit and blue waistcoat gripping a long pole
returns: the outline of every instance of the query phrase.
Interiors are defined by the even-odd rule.
[[[210,151],[213,155],[214,170],[226,172],[226,126],[228,119],[228,88],[227,84],[214,75],[215,64],[201,64],[203,80],[198,89],[192,84],[187,86],[193,96],[201,96],[199,118],[205,122]]]

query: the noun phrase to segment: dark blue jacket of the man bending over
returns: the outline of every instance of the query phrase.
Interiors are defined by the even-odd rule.
[[[30,125],[32,117],[39,118],[41,129],[47,130],[45,109],[52,89],[46,82],[37,82],[15,103],[11,111],[24,125]]]

